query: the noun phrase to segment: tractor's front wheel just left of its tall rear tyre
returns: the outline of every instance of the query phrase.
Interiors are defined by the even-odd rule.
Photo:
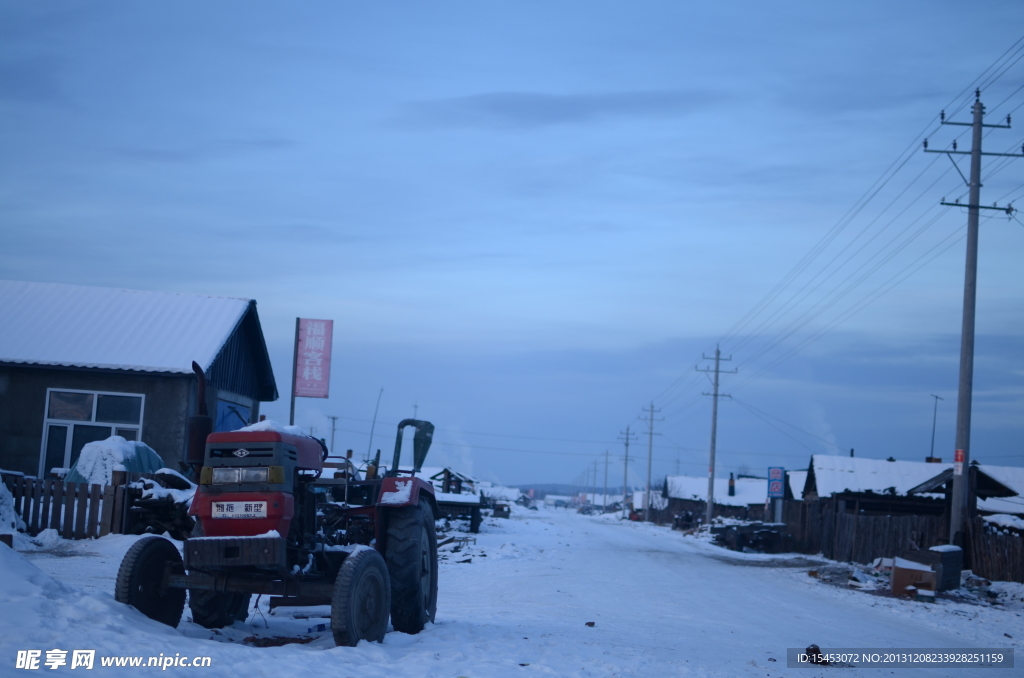
[[[382,642],[390,607],[391,585],[381,554],[365,549],[345,558],[331,597],[334,641],[349,647],[360,640]]]

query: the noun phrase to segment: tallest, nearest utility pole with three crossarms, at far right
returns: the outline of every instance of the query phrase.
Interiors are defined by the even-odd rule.
[[[939,118],[943,125],[958,125],[971,128],[971,151],[957,151],[956,141],[952,143],[951,151],[929,151],[928,139],[925,139],[925,153],[944,153],[956,167],[961,178],[968,184],[968,204],[963,205],[959,200],[947,203],[945,199],[940,205],[950,207],[967,207],[967,263],[964,268],[964,322],[961,329],[961,368],[959,368],[959,388],[956,395],[956,442],[953,452],[953,494],[949,508],[949,543],[957,546],[964,545],[964,516],[967,512],[968,481],[965,468],[969,468],[971,463],[971,405],[974,391],[974,317],[975,300],[978,291],[978,216],[983,209],[999,210],[1007,214],[1013,214],[1014,208],[1010,205],[1006,207],[991,207],[981,204],[981,157],[982,156],[1006,156],[1010,158],[1024,158],[1024,154],[1011,153],[982,153],[981,138],[983,127],[1010,128],[1010,116],[1007,116],[1006,125],[986,125],[984,121],[985,107],[981,103],[981,90],[974,91],[974,109],[972,111],[974,119],[970,123],[959,123],[946,120],[946,112],[943,111]],[[1024,146],[1021,149],[1024,151]],[[959,166],[953,160],[953,156],[971,156],[971,179],[964,177],[959,171]]]

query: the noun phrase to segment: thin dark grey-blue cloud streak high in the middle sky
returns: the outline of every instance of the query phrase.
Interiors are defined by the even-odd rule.
[[[687,115],[726,97],[711,90],[646,90],[600,94],[488,92],[408,104],[407,125],[530,129],[625,118]]]

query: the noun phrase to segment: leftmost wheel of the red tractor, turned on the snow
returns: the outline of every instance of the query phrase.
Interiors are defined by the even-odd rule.
[[[176,628],[185,607],[185,590],[165,588],[165,569],[184,575],[177,547],[163,537],[138,540],[121,561],[114,597],[151,620]]]

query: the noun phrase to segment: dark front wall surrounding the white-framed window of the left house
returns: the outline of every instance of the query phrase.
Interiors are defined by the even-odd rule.
[[[170,468],[184,458],[195,377],[0,364],[0,468],[36,475],[47,388],[142,393],[141,439]]]

